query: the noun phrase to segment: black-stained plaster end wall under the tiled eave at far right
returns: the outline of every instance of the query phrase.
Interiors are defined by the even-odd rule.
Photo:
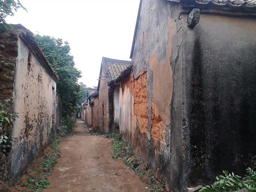
[[[256,19],[200,12],[196,27],[182,30],[191,184],[212,182],[222,170],[243,175],[256,155]]]

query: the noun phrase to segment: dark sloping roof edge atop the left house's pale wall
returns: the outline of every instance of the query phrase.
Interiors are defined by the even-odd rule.
[[[24,43],[30,48],[36,55],[37,59],[41,63],[41,65],[45,68],[47,73],[57,82],[59,81],[59,77],[55,74],[54,69],[51,67],[49,61],[46,59],[44,52],[39,47],[34,37],[34,34],[25,28],[21,24],[11,24],[13,28],[15,28],[15,32],[17,32],[21,39],[23,39]]]

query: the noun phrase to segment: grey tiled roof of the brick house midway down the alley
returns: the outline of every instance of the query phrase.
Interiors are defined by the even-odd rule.
[[[116,78],[121,75],[121,71],[124,71],[131,65],[132,61],[115,60],[102,57],[101,67],[104,71],[107,84],[109,85],[111,82],[114,82]]]

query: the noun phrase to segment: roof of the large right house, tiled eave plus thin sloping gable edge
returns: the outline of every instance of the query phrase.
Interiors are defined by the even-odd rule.
[[[171,2],[177,2],[177,3],[183,3],[183,4],[215,4],[218,5],[216,6],[217,9],[222,9],[223,5],[231,5],[231,7],[249,7],[249,8],[256,8],[256,0],[167,0],[167,1],[171,1]],[[140,10],[141,10],[141,4],[142,4],[142,0],[140,0],[140,5],[139,5],[139,11],[138,11],[138,15],[137,15],[137,20],[136,20],[136,25],[135,25],[135,29],[134,29],[134,35],[133,35],[133,40],[132,40],[132,50],[131,50],[131,55],[130,58],[132,58],[133,55],[133,51],[134,51],[134,46],[135,46],[135,37],[137,34],[137,29],[138,29],[138,25],[139,25],[139,19],[140,19]],[[219,6],[221,5],[221,6]],[[238,9],[238,8],[237,8]],[[233,9],[236,10],[236,9]],[[251,9],[250,9],[251,10]],[[256,9],[252,9],[253,12],[255,12],[254,10]],[[248,11],[247,9],[245,10],[240,10],[240,11]]]

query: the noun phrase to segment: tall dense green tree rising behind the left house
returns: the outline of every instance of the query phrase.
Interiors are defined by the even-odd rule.
[[[71,117],[77,109],[77,103],[82,98],[81,86],[77,80],[81,74],[74,65],[73,56],[67,41],[50,36],[35,35],[36,41],[43,50],[46,58],[54,68],[60,80],[57,82],[57,92],[62,100],[62,120],[72,130]]]

